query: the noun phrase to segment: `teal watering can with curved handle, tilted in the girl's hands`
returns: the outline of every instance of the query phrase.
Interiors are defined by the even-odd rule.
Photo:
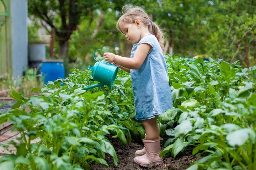
[[[98,50],[101,50],[101,49],[98,49]],[[93,57],[96,63],[94,64],[94,66],[89,66],[88,69],[92,70],[92,73],[91,73],[92,78],[95,81],[99,81],[100,83],[85,87],[85,90],[89,90],[91,88],[100,87],[104,85],[108,85],[112,87],[117,76],[117,72],[118,72],[117,66],[111,63],[107,63],[105,62],[105,60],[102,60],[102,61],[96,60],[95,52],[98,50],[95,50],[93,53]],[[103,52],[105,53],[105,51]]]

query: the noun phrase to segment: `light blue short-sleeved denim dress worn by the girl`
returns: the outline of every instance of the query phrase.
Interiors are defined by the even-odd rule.
[[[137,120],[154,118],[172,108],[172,92],[166,62],[155,35],[148,34],[134,44],[131,58],[142,43],[149,44],[152,49],[140,68],[130,69]]]

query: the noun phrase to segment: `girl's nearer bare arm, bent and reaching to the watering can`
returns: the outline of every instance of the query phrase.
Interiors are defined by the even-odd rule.
[[[110,52],[104,53],[104,58],[108,63],[115,62],[127,69],[138,69],[145,61],[151,48],[149,44],[143,43],[137,47],[133,58],[121,57]]]

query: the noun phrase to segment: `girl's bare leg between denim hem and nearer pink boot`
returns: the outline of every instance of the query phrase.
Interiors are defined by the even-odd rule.
[[[146,130],[147,140],[154,140],[160,138],[158,125],[156,126],[157,118],[142,120],[142,125]]]

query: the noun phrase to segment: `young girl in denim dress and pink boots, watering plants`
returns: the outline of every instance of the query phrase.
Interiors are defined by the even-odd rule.
[[[142,121],[146,130],[144,148],[135,152],[134,162],[141,166],[162,164],[156,120],[158,115],[172,108],[171,87],[161,49],[164,36],[142,8],[124,6],[122,13],[117,28],[134,44],[131,57],[106,52],[104,58],[131,74],[136,119]]]

